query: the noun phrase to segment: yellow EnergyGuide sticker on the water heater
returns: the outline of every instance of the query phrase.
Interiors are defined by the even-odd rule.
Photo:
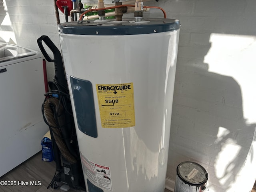
[[[96,84],[102,128],[135,126],[133,83]]]

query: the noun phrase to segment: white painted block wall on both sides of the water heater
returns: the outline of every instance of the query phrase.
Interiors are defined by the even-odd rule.
[[[8,10],[0,5],[0,37],[38,50],[36,39],[46,34],[60,48],[52,2],[1,1]],[[173,188],[180,162],[195,161],[208,171],[211,192],[249,192],[256,178],[256,1],[145,4],[181,23],[167,187]],[[145,16],[162,12],[151,9]],[[49,80],[53,74],[48,64]]]

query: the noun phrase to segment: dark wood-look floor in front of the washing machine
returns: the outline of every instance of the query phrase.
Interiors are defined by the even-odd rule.
[[[63,192],[60,188],[54,190],[47,189],[55,173],[54,162],[44,162],[41,160],[42,152],[37,153],[32,158],[26,160],[18,167],[14,168],[4,176],[0,181],[16,181],[16,186],[0,185],[0,192]],[[4,166],[4,165],[1,165]],[[28,185],[18,185],[18,182],[28,182]],[[30,182],[40,185],[30,185]],[[23,183],[24,184],[24,183]],[[84,192],[82,190],[70,189],[69,192]],[[170,192],[165,190],[165,192]]]

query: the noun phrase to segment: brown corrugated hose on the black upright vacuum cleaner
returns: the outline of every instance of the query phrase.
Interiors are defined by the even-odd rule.
[[[58,148],[60,149],[61,154],[63,157],[70,162],[70,164],[76,163],[76,158],[70,154],[64,140],[62,139],[62,134],[60,132],[60,128],[63,126],[63,122],[65,122],[65,116],[64,116],[64,108],[60,101],[57,98],[50,97],[44,102],[44,114],[46,117],[46,120],[50,127],[52,128],[53,136],[56,141],[56,144]],[[51,105],[54,106],[57,114],[61,114],[58,116],[58,120],[55,119],[54,111],[52,111]],[[58,124],[59,122],[59,124]]]

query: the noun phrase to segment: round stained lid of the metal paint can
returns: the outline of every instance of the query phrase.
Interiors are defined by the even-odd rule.
[[[182,162],[177,167],[177,175],[188,185],[202,186],[208,180],[208,173],[206,170],[195,162]]]

